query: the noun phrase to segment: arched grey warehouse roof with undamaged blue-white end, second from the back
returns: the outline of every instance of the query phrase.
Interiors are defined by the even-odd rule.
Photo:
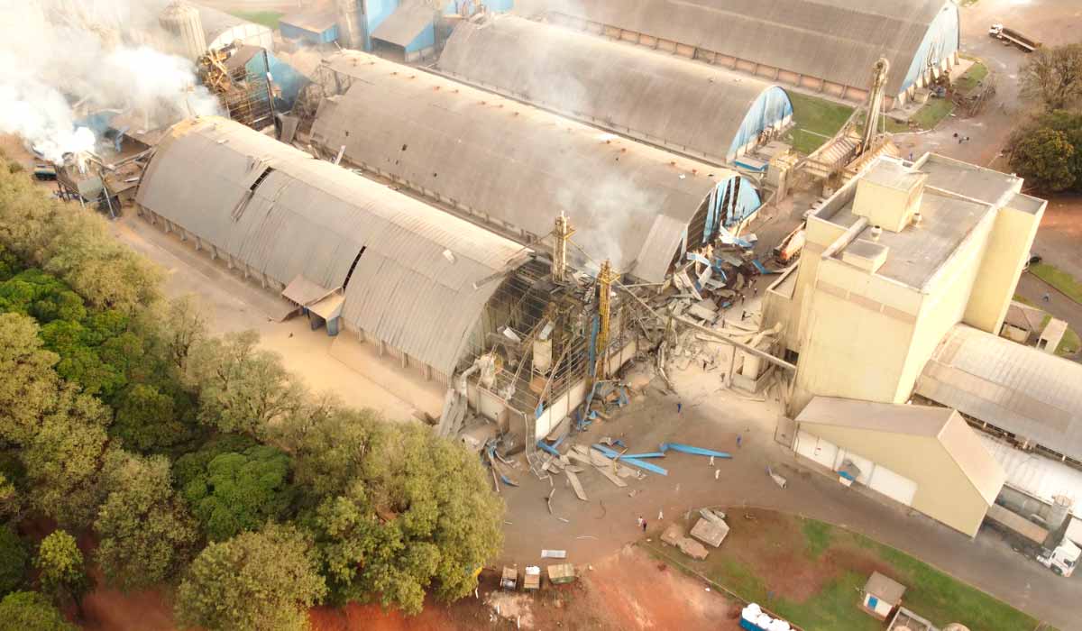
[[[439,70],[713,162],[792,119],[784,90],[707,64],[516,16],[459,25]]]

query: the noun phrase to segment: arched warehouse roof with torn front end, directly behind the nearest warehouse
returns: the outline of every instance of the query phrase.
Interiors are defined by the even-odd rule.
[[[525,241],[563,211],[594,261],[644,280],[664,279],[686,232],[697,247],[718,212],[731,224],[760,205],[734,171],[418,68],[354,51],[325,64],[345,93],[320,105],[316,145]]]

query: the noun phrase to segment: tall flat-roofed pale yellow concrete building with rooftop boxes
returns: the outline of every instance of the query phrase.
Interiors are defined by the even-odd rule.
[[[814,396],[901,404],[958,324],[998,334],[1046,202],[1021,179],[926,154],[884,157],[807,220],[800,264],[765,293]]]

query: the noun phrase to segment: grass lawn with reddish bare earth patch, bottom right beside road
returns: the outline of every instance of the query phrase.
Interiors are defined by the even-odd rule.
[[[747,513],[755,520],[744,518]],[[705,561],[681,557],[679,562],[807,631],[882,631],[884,626],[859,607],[860,590],[873,569],[905,584],[906,607],[940,628],[949,622],[981,631],[1038,626],[1038,620],[1006,603],[843,528],[743,509],[733,510],[728,523],[728,538],[720,549],[710,549]]]

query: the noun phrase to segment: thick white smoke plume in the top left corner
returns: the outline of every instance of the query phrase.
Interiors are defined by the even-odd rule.
[[[0,133],[47,159],[94,146],[80,118],[111,110],[156,129],[219,113],[195,65],[171,54],[164,0],[0,0]]]

